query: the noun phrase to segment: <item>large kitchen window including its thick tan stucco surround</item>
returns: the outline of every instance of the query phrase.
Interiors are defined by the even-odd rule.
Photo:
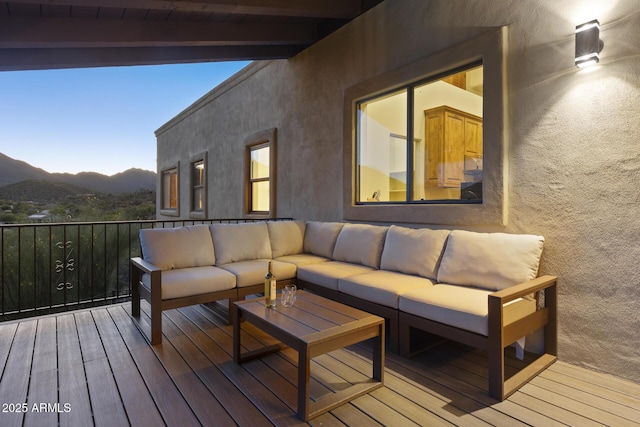
[[[349,87],[344,218],[504,225],[506,28]]]

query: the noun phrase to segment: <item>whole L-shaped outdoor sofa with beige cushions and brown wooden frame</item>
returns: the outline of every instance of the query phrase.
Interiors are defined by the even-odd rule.
[[[266,221],[145,229],[140,241],[132,314],[149,300],[153,345],[162,310],[261,293],[272,260],[279,288],[296,282],[384,317],[392,351],[411,355],[412,328],[485,350],[499,400],[556,360],[556,277],[537,277],[541,236]],[[505,381],[504,349],[541,328],[544,353]]]

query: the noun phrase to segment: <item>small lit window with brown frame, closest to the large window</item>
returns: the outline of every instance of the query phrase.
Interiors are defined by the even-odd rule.
[[[248,216],[275,215],[275,129],[247,139],[245,211]]]

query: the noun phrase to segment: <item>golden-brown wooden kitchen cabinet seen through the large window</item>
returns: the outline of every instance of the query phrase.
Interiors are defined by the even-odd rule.
[[[442,106],[425,110],[425,187],[457,187],[464,157],[482,157],[482,118]]]

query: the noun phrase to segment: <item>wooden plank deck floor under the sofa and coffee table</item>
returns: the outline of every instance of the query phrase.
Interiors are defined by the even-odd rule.
[[[203,306],[166,312],[163,344],[152,348],[129,313],[124,304],[0,324],[0,426],[304,425],[295,352],[237,365],[231,327]],[[270,341],[245,333],[249,348]],[[312,395],[364,380],[368,358],[366,344],[315,358]],[[410,360],[387,353],[385,387],[310,424],[640,425],[638,384],[557,362],[497,402],[486,362],[451,343]]]

